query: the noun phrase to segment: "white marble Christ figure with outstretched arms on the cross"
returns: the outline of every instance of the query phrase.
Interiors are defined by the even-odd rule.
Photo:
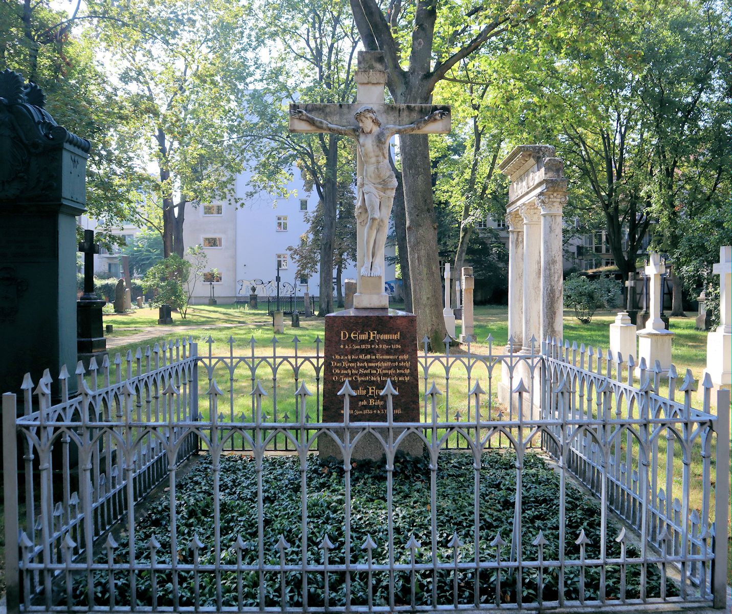
[[[376,109],[363,106],[354,114],[358,127],[330,124],[302,109],[291,111],[291,114],[320,130],[353,138],[358,143],[363,160],[363,176],[359,177],[357,185],[356,220],[359,225],[365,226],[365,254],[360,273],[362,277],[380,277],[382,272],[379,263],[384,258],[386,231],[397,187],[397,178],[389,164],[389,140],[394,135],[421,130],[427,124],[447,117],[448,112],[435,111],[406,126],[383,126]]]

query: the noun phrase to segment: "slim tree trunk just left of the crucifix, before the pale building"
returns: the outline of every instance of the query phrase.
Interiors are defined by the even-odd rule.
[[[338,139],[328,137],[328,157],[326,159],[325,180],[323,184],[323,234],[320,249],[320,299],[318,315],[324,316],[333,309],[333,243],[335,242],[335,222],[338,215],[337,203],[337,166]]]

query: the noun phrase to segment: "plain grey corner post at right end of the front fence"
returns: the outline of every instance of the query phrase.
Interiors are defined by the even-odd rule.
[[[730,504],[730,391],[717,392],[717,485],[714,488],[714,607],[727,602],[727,523]]]

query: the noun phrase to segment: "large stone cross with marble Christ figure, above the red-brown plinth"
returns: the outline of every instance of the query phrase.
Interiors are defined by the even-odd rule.
[[[397,134],[445,134],[449,107],[386,105],[386,64],[381,51],[359,52],[355,104],[290,105],[291,132],[334,132],[358,144],[356,308],[389,307],[384,291],[384,244],[397,180],[389,140]]]

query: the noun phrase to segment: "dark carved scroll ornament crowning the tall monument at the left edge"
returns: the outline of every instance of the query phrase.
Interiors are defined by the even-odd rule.
[[[48,153],[64,143],[88,154],[91,143],[56,124],[35,83],[12,70],[0,72],[0,201],[45,194],[55,187]]]

